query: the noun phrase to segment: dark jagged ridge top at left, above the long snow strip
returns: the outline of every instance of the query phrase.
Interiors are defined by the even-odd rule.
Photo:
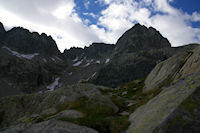
[[[51,36],[47,36],[45,33],[41,35],[37,32],[31,33],[22,27],[14,27],[7,31],[2,40],[7,47],[20,53],[40,53],[43,55],[60,54],[56,42]]]

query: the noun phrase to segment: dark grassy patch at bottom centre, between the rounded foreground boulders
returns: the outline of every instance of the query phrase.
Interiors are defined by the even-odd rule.
[[[69,121],[79,125],[91,127],[100,133],[121,133],[127,129],[128,117],[118,116],[112,106],[82,97],[74,102],[67,102],[57,106],[57,110],[75,109],[84,113],[83,118],[60,118],[62,121]]]

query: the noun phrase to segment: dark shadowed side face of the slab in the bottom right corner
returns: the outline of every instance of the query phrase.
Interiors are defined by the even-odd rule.
[[[200,132],[200,88],[182,102],[170,114],[166,121],[160,124],[154,132],[164,133],[198,133]]]

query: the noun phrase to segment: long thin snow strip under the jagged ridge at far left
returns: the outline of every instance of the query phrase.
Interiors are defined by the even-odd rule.
[[[17,51],[13,51],[10,48],[3,46],[2,48],[7,49],[8,51],[10,51],[14,56],[17,56],[18,58],[25,58],[28,60],[33,59],[35,56],[39,55],[38,53],[34,53],[34,54],[20,54]]]

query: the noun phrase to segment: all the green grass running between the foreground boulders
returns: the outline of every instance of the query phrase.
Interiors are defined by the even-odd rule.
[[[130,123],[128,115],[121,116],[119,113],[123,111],[132,113],[136,108],[147,103],[151,98],[160,93],[160,90],[143,93],[143,87],[144,80],[138,80],[123,84],[117,89],[100,89],[102,94],[109,96],[111,101],[119,108],[118,112],[115,112],[112,107],[102,101],[82,97],[77,101],[59,105],[56,109],[59,111],[75,109],[84,113],[84,117],[77,119],[60,118],[59,120],[91,127],[100,133],[122,133],[128,128]],[[135,104],[128,107],[127,100],[135,101]]]

